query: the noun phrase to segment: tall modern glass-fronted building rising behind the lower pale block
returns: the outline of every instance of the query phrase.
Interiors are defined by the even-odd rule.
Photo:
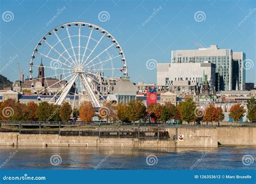
[[[237,54],[235,54],[235,56],[237,56]],[[238,69],[233,70],[232,68],[235,66],[233,65],[234,62],[232,49],[219,49],[217,45],[211,45],[209,48],[199,48],[197,50],[176,50],[172,51],[171,58],[172,63],[204,61],[215,63],[216,90],[234,90],[235,83],[233,85],[233,82],[237,78],[239,78],[239,83],[241,83],[240,86],[242,86],[242,82],[245,82],[245,70],[241,69],[242,61],[245,59],[245,54],[242,53],[242,57],[239,58],[239,62],[241,60],[241,65],[238,65]],[[242,90],[240,87],[239,89]]]

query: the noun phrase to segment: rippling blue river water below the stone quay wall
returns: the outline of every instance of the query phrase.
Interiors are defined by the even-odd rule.
[[[255,159],[256,146],[218,148],[0,146],[0,169],[256,169]]]

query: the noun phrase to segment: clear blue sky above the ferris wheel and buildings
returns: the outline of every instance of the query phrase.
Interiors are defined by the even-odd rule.
[[[58,9],[65,10],[48,26]],[[84,21],[103,27],[119,42],[126,56],[133,82],[156,83],[157,69],[148,69],[147,60],[170,62],[171,50],[198,49],[218,45],[246,53],[254,67],[246,70],[246,82],[255,82],[255,0],[245,1],[23,1],[1,0],[0,69],[11,81],[18,79],[17,62],[28,76],[33,48],[53,27],[66,22]],[[4,21],[3,13],[12,12]],[[100,12],[109,19],[100,21]],[[201,22],[194,15],[203,11]],[[250,11],[250,17],[245,18]],[[156,12],[156,13],[153,13]],[[153,15],[153,16],[152,16]],[[149,20],[145,23],[146,20]],[[242,19],[246,19],[241,23]],[[10,57],[16,59],[9,61]],[[4,66],[9,62],[7,68]]]

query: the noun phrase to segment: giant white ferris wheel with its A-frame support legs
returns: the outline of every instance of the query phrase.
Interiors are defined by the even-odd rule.
[[[39,100],[50,94],[50,102],[61,105],[68,95],[82,93],[93,107],[100,107],[103,94],[99,89],[112,91],[103,81],[126,77],[127,65],[122,48],[109,32],[91,23],[70,22],[53,28],[39,40],[29,74]]]

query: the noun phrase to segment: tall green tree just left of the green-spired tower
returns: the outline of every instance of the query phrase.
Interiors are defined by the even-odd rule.
[[[188,123],[196,121],[195,109],[196,104],[192,98],[188,98],[181,107],[181,119]]]

